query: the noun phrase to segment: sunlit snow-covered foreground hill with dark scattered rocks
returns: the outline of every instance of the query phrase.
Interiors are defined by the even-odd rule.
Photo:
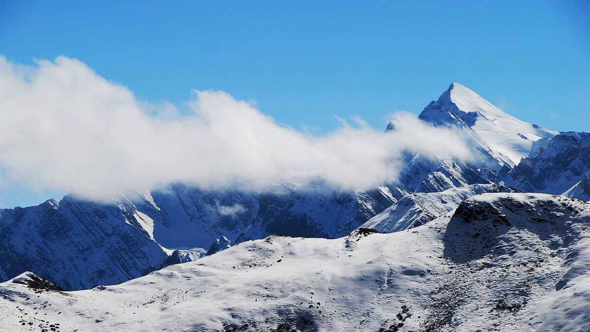
[[[486,193],[423,226],[271,236],[124,284],[0,284],[10,331],[588,331],[590,204]],[[53,331],[53,330],[51,330]]]

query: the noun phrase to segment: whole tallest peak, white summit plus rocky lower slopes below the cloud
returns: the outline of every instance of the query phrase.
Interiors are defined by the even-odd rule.
[[[557,132],[514,118],[458,83],[428,104],[419,119],[435,126],[458,129],[473,148],[474,161],[430,160],[408,154],[399,186],[407,191],[437,192],[469,184],[498,183],[498,171],[511,170],[526,157],[533,142]],[[386,131],[394,131],[390,122]]]

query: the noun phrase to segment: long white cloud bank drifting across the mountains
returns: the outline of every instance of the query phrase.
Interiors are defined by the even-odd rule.
[[[395,182],[405,150],[470,155],[455,132],[408,113],[386,134],[358,121],[311,136],[224,92],[195,91],[189,108],[146,106],[73,58],[0,57],[0,180],[95,200],[175,182],[255,190],[322,178],[362,190]]]

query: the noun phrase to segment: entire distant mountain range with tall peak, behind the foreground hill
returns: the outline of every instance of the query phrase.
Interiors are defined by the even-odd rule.
[[[568,191],[566,195],[584,199],[575,195],[585,188],[584,182],[576,183],[590,171],[589,134],[553,138],[555,132],[514,119],[457,83],[420,118],[460,129],[473,142],[474,154],[483,155],[481,162],[407,154],[399,183],[369,191],[337,191],[321,181],[276,184],[260,193],[175,184],[109,204],[66,196],[60,202],[4,209],[0,280],[32,271],[64,289],[84,289],[124,282],[269,235],[334,239],[358,227],[393,232],[430,221],[488,190],[482,188],[509,191],[494,185],[501,180],[521,191]],[[388,131],[395,129],[394,123],[388,125]]]

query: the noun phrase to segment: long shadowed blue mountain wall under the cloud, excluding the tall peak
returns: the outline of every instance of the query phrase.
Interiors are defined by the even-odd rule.
[[[109,204],[66,196],[0,210],[0,281],[32,271],[64,289],[84,289],[274,233],[339,237],[407,194],[395,187],[354,193],[280,187],[252,194],[177,184]]]

